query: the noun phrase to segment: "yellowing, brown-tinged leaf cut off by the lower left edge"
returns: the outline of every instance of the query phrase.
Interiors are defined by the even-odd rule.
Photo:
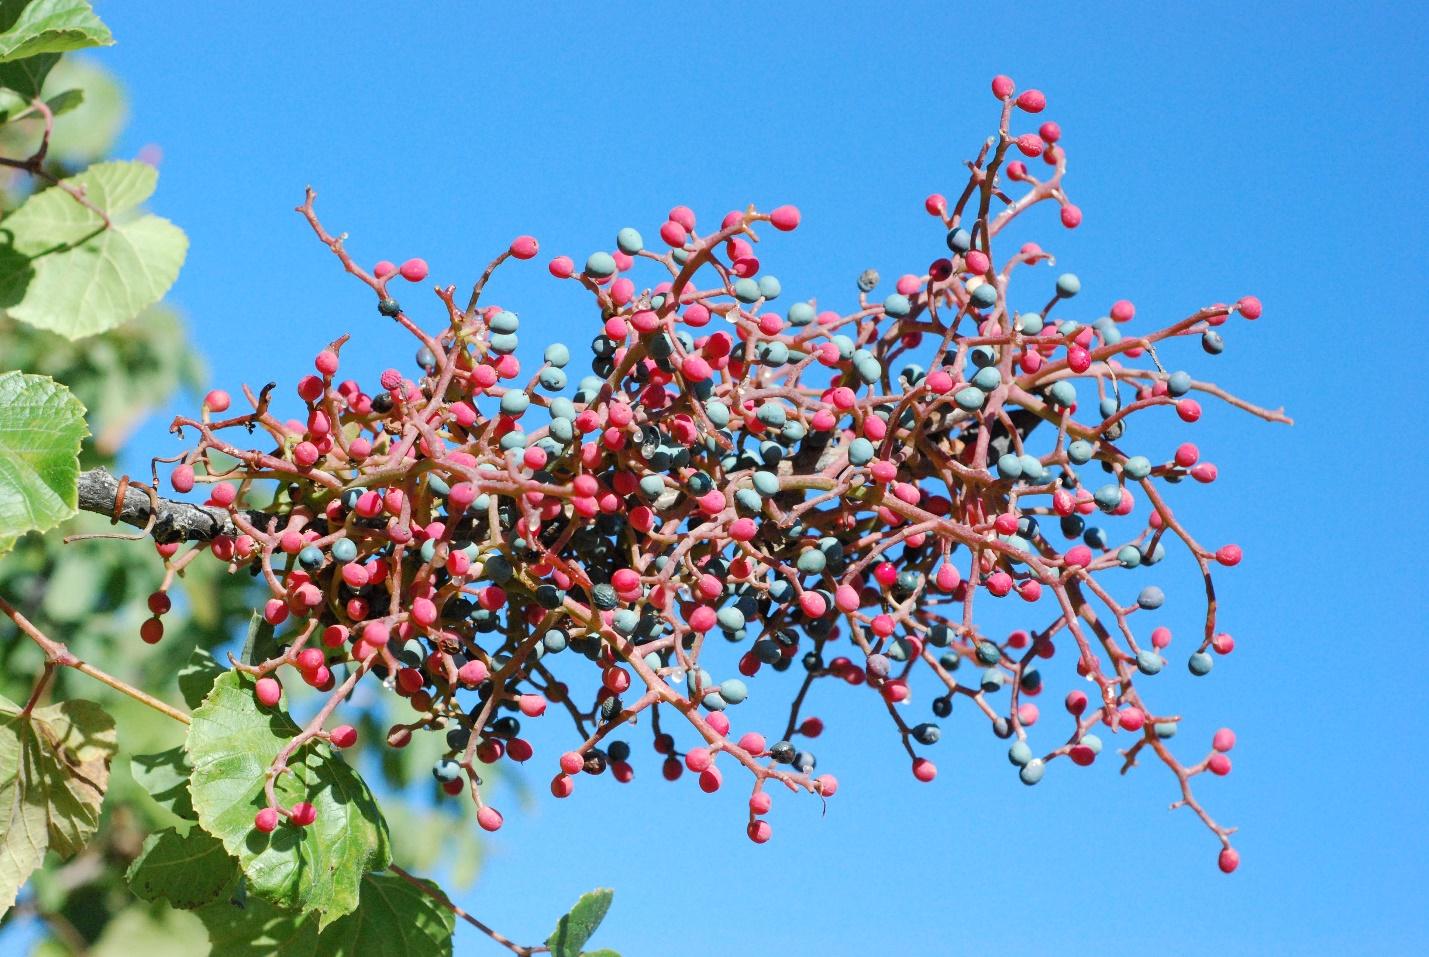
[[[94,834],[116,747],[93,701],[20,710],[0,698],[0,914],[46,850],[70,857]]]

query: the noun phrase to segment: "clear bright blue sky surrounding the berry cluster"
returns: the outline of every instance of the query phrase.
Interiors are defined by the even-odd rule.
[[[100,59],[131,94],[123,151],[163,147],[154,207],[193,241],[173,299],[219,386],[290,384],[342,331],[357,340],[344,367],[364,379],[410,364],[410,340],[292,211],[307,183],[362,260],[423,256],[462,286],[513,236],[539,236],[542,259],[492,287],[522,313],[529,356],[596,331],[546,254],[580,260],[622,226],[653,237],[676,203],[706,221],[799,204],[803,226],[762,247],[766,267],[789,293],[852,303],[862,269],[897,276],[940,254],[922,199],[956,190],[993,131],[995,73],[1045,90],[1065,131],[1086,221],[1069,233],[1045,211],[1019,236],[1082,277],[1085,319],[1120,297],[1139,321],[1265,301],[1259,323],[1225,327],[1223,356],[1183,353],[1296,419],[1210,409],[1193,437],[1220,481],[1176,490],[1205,540],[1246,550],[1218,578],[1238,648],[1195,683],[1180,650],[1150,684],[1185,714],[1183,756],[1223,724],[1239,734],[1235,771],[1200,787],[1242,828],[1239,873],[1216,870],[1189,811],[1167,813],[1159,766],[1123,778],[1106,757],[1062,761],[1026,788],[963,713],[925,786],[870,696],[829,688],[817,754],[842,790],[826,814],[780,797],[773,841],[755,847],[743,781],[714,797],[664,784],[632,736],[632,786],[582,781],[527,810],[506,797],[466,907],[540,940],[582,890],[612,886],[593,943],[624,957],[1422,946],[1422,344],[1388,334],[1425,307],[1422,4],[97,7],[120,40]],[[143,440],[170,447],[160,430]],[[1189,633],[1183,573],[1165,573],[1185,596],[1166,621]],[[1046,708],[1070,666],[1045,668]],[[743,707],[749,721],[773,713]],[[536,743],[529,778],[544,794],[563,741]],[[499,953],[459,933],[459,953]]]

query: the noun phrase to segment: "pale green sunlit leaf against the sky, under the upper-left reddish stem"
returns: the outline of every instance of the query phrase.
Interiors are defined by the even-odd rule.
[[[0,247],[0,307],[39,329],[83,339],[163,299],[189,237],[136,209],[157,181],[147,163],[97,163],[27,199],[0,223],[0,241],[9,240]],[[67,190],[83,191],[94,209]]]

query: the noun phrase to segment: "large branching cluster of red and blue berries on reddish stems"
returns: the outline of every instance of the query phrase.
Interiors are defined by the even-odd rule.
[[[919,751],[940,736],[910,714],[926,683],[932,717],[966,700],[1009,741],[1026,784],[1063,757],[1092,764],[1099,734],[1127,736],[1126,761],[1145,750],[1172,768],[1179,804],[1215,831],[1232,870],[1230,828],[1189,781],[1228,773],[1235,736],[1218,733],[1199,763],[1170,753],[1176,716],[1142,697],[1170,631],[1137,638],[1132,621],[1160,607],[1160,588],[1133,583],[1172,548],[1196,561],[1208,596],[1212,567],[1236,564],[1240,550],[1199,544],[1163,498],[1187,477],[1216,478],[1193,444],[1167,454],[1127,440],[1135,414],[1163,406],[1195,423],[1196,394],[1285,420],[1157,357],[1177,337],[1219,353],[1218,329],[1233,313],[1259,317],[1260,303],[1243,297],[1133,333],[1126,300],[1095,321],[1069,316],[1080,283],[1065,273],[1040,309],[1016,307],[1013,274],[1050,256],[1033,243],[997,256],[995,240],[1037,203],[1056,203],[1067,229],[1082,213],[1062,187],[1057,124],[1010,130],[1045,109],[1043,94],[1015,96],[1007,77],[993,93],[997,136],[969,163],[962,193],[926,200],[946,254],[886,296],[873,294],[876,273],[862,274],[852,311],[805,300],[775,309],[783,287],[762,271],[755,243],[765,224],[796,229],[792,206],[732,211],[706,233],[680,206],[657,247],[622,229],[613,250],[582,267],[550,260],[600,313],[592,374],[574,389],[563,344],[523,379],[517,316],[482,303],[497,266],[537,254],[534,239],[512,243],[464,306],[454,287],[437,287],[444,317],[429,333],[394,287],[424,281],[426,263],[367,271],[319,223],[309,193],[300,211],[373,290],[377,311],[417,340],[416,364],[369,389],[340,380],[344,336],[297,384],[302,420],[277,419],[270,390],[246,390],[250,410],[231,416],[230,397],[210,393],[200,419],[174,423],[197,433],[196,446],[166,461],[177,463],[173,487],[204,483],[237,534],[184,554],[160,548],[176,567],[206,551],[266,583],[262,613],[279,651],[234,667],[254,676],[264,707],[279,703],[280,676],[330,693],[293,747],[319,737],[350,747],[350,726],[324,726],[372,674],[413,711],[387,744],[442,731],[449,751],[436,778],[447,793],[469,790],[494,830],[502,817],[483,804],[479,763],[530,758],[523,721],[552,706],[572,718],[579,741],[553,761],[550,786],[566,797],[582,774],[630,780],[632,747],[614,736],[647,713],[666,778],[687,768],[713,791],[722,767],[753,774],[747,833],[762,843],[769,781],[823,797],[837,788],[796,743],[823,730],[802,713],[816,681],[872,693],[923,781],[936,767]],[[1046,177],[1015,154],[1040,157]],[[1005,191],[1013,184],[1016,197]],[[652,284],[637,284],[642,271]],[[267,441],[249,447],[256,433]],[[1136,597],[1123,603],[1127,588]],[[990,633],[975,614],[987,604],[1022,608],[1029,626]],[[167,598],[151,608],[144,637],[157,640]],[[722,654],[726,643],[737,658]],[[1192,644],[1195,674],[1233,647],[1216,630],[1213,597]],[[1066,727],[1035,750],[1036,698],[1059,650],[1087,690],[1066,696]],[[557,677],[574,674],[572,660],[599,671],[592,694]],[[735,734],[732,708],[766,668],[802,674],[787,721]],[[662,730],[672,714],[692,743]],[[269,797],[259,830],[312,821],[310,804],[279,807],[272,783]]]

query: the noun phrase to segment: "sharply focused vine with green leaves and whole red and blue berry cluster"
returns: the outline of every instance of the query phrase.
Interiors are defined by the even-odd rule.
[[[0,10],[0,83],[14,100],[7,121],[44,120],[26,159],[0,161],[49,184],[4,220],[0,306],[10,334],[24,326],[24,336],[103,343],[124,323],[164,314],[153,309],[186,240],[139,210],[154,189],[150,167],[47,166],[50,121],[84,103],[46,86],[59,74],[54,56],[109,41],[89,4]],[[560,343],[522,386],[519,319],[482,301],[497,267],[537,254],[533,237],[500,253],[464,306],[454,286],[436,287],[437,319],[422,323],[396,290],[426,281],[426,263],[369,271],[322,226],[309,191],[299,211],[370,289],[376,311],[413,336],[414,371],[389,369],[367,387],[340,380],[349,341],[340,336],[297,383],[300,420],[277,416],[287,399],[273,387],[244,390],[242,411],[233,396],[210,391],[196,414],[174,420],[191,444],[164,460],[173,491],[204,488],[201,504],[127,480],[107,493],[117,500],[86,497],[100,476],[81,473],[81,459],[104,453],[80,447],[79,401],[33,373],[0,377],[0,396],[33,397],[0,409],[0,449],[23,466],[0,471],[0,536],[43,531],[77,503],[153,533],[163,577],[134,630],[163,648],[154,660],[164,664],[131,681],[56,641],[50,633],[63,630],[66,613],[46,601],[64,564],[53,563],[46,540],[21,540],[14,558],[44,571],[40,581],[0,581],[16,598],[0,598],[0,610],[19,628],[7,658],[29,647],[39,678],[26,691],[30,706],[4,711],[0,790],[16,810],[0,891],[13,900],[46,847],[77,854],[103,826],[113,721],[67,694],[70,673],[137,701],[130,711],[144,706],[186,726],[181,744],[141,734],[144,747],[116,764],[150,796],[143,841],[124,856],[141,903],[106,911],[113,923],[103,933],[76,933],[96,950],[116,927],[137,938],[149,933],[140,927],[161,924],[176,940],[206,933],[224,954],[450,953],[460,917],[516,953],[579,957],[609,910],[609,890],[583,896],[543,947],[507,941],[394,863],[392,828],[359,761],[346,757],[360,751],[349,748],[380,738],[389,751],[380,771],[396,781],[413,754],[434,751],[442,793],[469,796],[477,824],[494,831],[503,818],[483,786],[493,766],[533,756],[523,720],[536,726],[552,704],[572,718],[574,738],[552,763],[550,790],[564,798],[582,774],[632,778],[632,747],[617,734],[647,714],[667,780],[689,770],[714,791],[722,767],[752,776],[743,826],[765,843],[770,783],[820,798],[837,791],[832,774],[816,773],[807,744],[823,727],[805,713],[815,686],[857,688],[887,716],[922,781],[936,776],[922,750],[942,726],[909,720],[915,684],[935,688],[939,720],[955,700],[970,701],[1010,743],[1027,786],[1053,766],[1095,764],[1099,734],[1125,734],[1125,767],[1143,753],[1165,764],[1177,806],[1210,828],[1219,867],[1233,871],[1233,828],[1206,813],[1192,780],[1229,773],[1235,736],[1222,730],[1195,761],[1172,753],[1176,718],[1143,694],[1172,636],[1140,623],[1166,600],[1149,580],[1155,567],[1172,547],[1183,550],[1208,594],[1187,667],[1208,674],[1215,656],[1233,650],[1218,627],[1212,571],[1239,564],[1240,550],[1200,544],[1169,506],[1186,478],[1218,477],[1196,446],[1160,454],[1129,443],[1153,410],[1198,421],[1193,394],[1289,421],[1167,371],[1157,353],[1192,337],[1219,354],[1225,323],[1255,320],[1262,307],[1248,296],[1132,331],[1127,300],[1093,321],[1075,319],[1082,283],[1063,273],[1030,293],[1045,306],[1016,309],[1013,279],[1036,281],[1033,267],[1050,256],[1035,243],[1003,251],[1006,231],[1040,203],[1056,206],[1067,229],[1082,211],[1063,187],[1060,129],[1013,131],[1013,119],[1042,113],[1046,97],[1017,93],[1007,77],[993,80],[993,94],[997,133],[969,164],[959,199],[935,194],[925,204],[947,256],[882,297],[873,296],[880,277],[863,273],[846,313],[809,300],[770,310],[783,284],[762,271],[755,243],[766,226],[795,230],[792,206],[736,210],[704,233],[682,206],[659,226],[659,249],[624,227],[614,249],[592,253],[583,269],[552,259],[552,276],[587,290],[600,320],[592,374],[574,389],[572,350]],[[1047,166],[1043,177],[1027,169],[1033,159]],[[637,273],[653,281],[637,286]],[[90,361],[91,350],[70,354]],[[160,367],[164,383],[187,376],[181,363]],[[81,389],[104,404],[101,387]],[[41,429],[31,409],[46,423],[60,417],[54,410],[69,420]],[[123,426],[96,431],[111,441],[114,429]],[[186,508],[201,521],[163,520]],[[1073,544],[1057,541],[1052,526]],[[23,554],[31,543],[40,544]],[[114,574],[134,573],[124,563]],[[187,608],[169,597],[180,577],[214,587],[220,611],[207,623],[197,593]],[[254,584],[233,584],[243,581]],[[211,651],[244,604],[254,608],[247,640],[223,667]],[[176,628],[174,616],[189,621]],[[1025,627],[999,637],[992,623],[1009,616]],[[727,641],[707,641],[714,634]],[[1042,714],[1032,698],[1047,687],[1043,670],[1059,646],[1060,660],[1072,660],[1067,677],[1093,694],[1069,691],[1070,731],[1033,750]],[[773,693],[767,671],[796,667],[787,723],[767,737],[730,738],[726,711]],[[597,691],[572,690],[569,678],[582,673]],[[760,673],[752,688],[746,680]],[[51,690],[66,693],[61,704],[31,707]],[[302,708],[294,693],[306,698]],[[163,700],[176,694],[187,710]],[[379,698],[403,717],[379,723]],[[662,720],[679,728],[662,730]],[[120,724],[127,741],[124,714]],[[37,887],[40,907],[44,897]]]

